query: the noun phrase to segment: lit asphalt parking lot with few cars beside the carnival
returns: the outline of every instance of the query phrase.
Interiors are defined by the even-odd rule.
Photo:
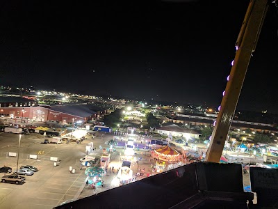
[[[94,139],[94,146],[103,144],[104,140]],[[78,162],[85,155],[86,144],[92,139],[85,139],[81,144],[41,144],[42,141],[44,137],[40,134],[22,135],[19,150],[18,134],[0,132],[0,167],[11,167],[15,172],[17,157],[8,157],[8,153],[19,150],[19,167],[28,164],[39,169],[33,176],[26,176],[22,185],[0,183],[1,209],[54,208],[81,194],[86,176]],[[38,159],[30,159],[30,155],[37,155]],[[51,157],[58,157],[56,166]],[[75,173],[70,173],[70,167],[75,169]],[[3,175],[0,173],[0,176]]]

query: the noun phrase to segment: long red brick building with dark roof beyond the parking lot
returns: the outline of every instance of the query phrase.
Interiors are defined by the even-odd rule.
[[[108,109],[95,107],[93,104],[67,104],[56,106],[38,106],[35,100],[19,97],[0,97],[0,115],[22,120],[29,118],[33,121],[72,121],[87,122],[106,114]]]

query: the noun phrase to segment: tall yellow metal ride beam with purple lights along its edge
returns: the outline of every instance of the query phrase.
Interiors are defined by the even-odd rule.
[[[236,57],[231,68],[229,81],[222,98],[220,112],[216,119],[211,144],[208,147],[205,161],[219,162],[224,148],[225,140],[234,117],[241,88],[245,79],[252,52],[256,47],[261,26],[268,10],[267,0],[250,1],[243,26],[240,29],[236,42]]]

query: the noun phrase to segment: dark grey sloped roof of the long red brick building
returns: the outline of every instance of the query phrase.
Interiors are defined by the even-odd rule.
[[[65,114],[79,116],[82,118],[92,116],[93,114],[97,114],[97,111],[99,111],[99,109],[97,109],[94,105],[91,104],[55,106],[51,107],[51,110],[60,111]]]

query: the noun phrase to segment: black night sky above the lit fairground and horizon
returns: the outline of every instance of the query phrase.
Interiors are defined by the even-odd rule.
[[[0,1],[0,84],[218,107],[248,3]],[[277,21],[272,5],[242,109],[278,107]]]

